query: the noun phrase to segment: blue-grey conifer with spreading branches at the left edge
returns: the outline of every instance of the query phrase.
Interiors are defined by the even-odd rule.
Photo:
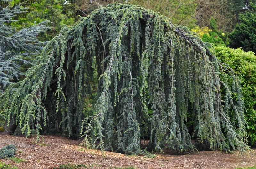
[[[17,14],[25,13],[27,8],[21,4],[5,8],[0,7],[0,88],[17,81],[23,74],[20,66],[29,64],[31,57],[41,53],[45,43],[37,39],[37,36],[47,30],[47,22],[17,30],[10,23]]]

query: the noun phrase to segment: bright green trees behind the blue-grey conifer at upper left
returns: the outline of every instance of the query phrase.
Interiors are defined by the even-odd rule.
[[[14,7],[18,4],[27,8],[27,12],[17,14],[14,19],[19,22],[12,22],[10,25],[21,29],[43,21],[50,21],[47,33],[42,33],[39,37],[40,40],[51,40],[61,29],[63,25],[71,26],[79,18],[76,17],[74,8],[69,1],[65,0],[13,0],[11,5]]]

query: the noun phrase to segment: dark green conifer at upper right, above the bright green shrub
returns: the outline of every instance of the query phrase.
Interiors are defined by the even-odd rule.
[[[256,5],[250,3],[254,12],[240,14],[235,29],[229,35],[229,46],[242,47],[245,51],[256,52]]]

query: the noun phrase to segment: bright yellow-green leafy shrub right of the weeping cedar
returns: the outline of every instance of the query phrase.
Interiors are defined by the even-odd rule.
[[[234,74],[240,77],[244,105],[246,109],[249,144],[256,142],[256,56],[253,52],[244,52],[241,48],[215,47],[216,56],[228,64]]]

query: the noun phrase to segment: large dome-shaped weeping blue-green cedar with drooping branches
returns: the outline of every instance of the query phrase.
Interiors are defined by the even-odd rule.
[[[145,137],[156,151],[192,151],[192,138],[207,140],[211,149],[244,151],[239,83],[188,28],[116,3],[62,28],[1,104],[26,136],[82,135],[86,146],[122,153],[139,152]],[[95,96],[93,111],[84,109],[88,95]]]

